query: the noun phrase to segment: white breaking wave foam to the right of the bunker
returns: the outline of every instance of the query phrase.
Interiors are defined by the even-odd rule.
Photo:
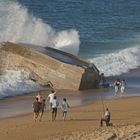
[[[127,48],[115,53],[89,59],[106,76],[120,75],[140,66],[140,47]]]

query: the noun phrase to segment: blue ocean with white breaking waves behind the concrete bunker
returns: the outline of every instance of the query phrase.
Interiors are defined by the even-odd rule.
[[[0,0],[0,42],[53,47],[120,75],[140,66],[139,7],[139,0]]]

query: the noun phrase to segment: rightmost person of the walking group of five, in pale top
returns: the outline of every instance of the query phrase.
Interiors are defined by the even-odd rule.
[[[63,113],[63,114],[62,114],[62,117],[63,117],[63,120],[64,120],[64,121],[66,120],[68,108],[69,108],[69,104],[68,104],[66,98],[63,98],[63,102],[62,102],[62,105],[61,105],[61,109],[62,109],[62,113]]]

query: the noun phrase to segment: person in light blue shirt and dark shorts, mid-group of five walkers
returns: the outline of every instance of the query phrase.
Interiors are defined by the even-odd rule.
[[[52,100],[52,121],[56,120],[58,106],[59,106],[59,102],[57,101],[56,96],[54,96]]]

